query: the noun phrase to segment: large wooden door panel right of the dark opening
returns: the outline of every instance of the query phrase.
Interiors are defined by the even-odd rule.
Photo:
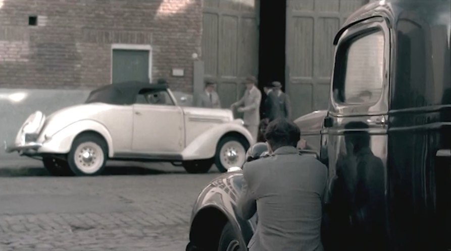
[[[333,38],[346,18],[368,0],[286,1],[286,92],[293,118],[327,109]]]

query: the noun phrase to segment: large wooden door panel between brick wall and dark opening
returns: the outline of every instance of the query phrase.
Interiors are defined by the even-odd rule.
[[[205,0],[202,58],[205,78],[217,81],[223,108],[243,94],[240,82],[257,77],[260,0]]]

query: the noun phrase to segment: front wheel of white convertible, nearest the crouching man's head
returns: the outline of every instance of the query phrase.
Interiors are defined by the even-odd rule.
[[[216,148],[215,164],[219,171],[226,172],[230,167],[241,167],[246,160],[249,148],[247,140],[241,137],[225,137]]]

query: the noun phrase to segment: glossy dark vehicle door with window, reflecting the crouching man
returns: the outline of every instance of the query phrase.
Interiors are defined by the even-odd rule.
[[[390,33],[383,18],[371,18],[343,34],[322,140],[330,182],[325,248],[386,250]]]

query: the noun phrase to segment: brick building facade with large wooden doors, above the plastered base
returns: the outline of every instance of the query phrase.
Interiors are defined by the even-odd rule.
[[[254,75],[297,117],[327,108],[333,37],[369,1],[0,0],[0,88],[166,78],[196,93],[213,78],[225,108]]]

